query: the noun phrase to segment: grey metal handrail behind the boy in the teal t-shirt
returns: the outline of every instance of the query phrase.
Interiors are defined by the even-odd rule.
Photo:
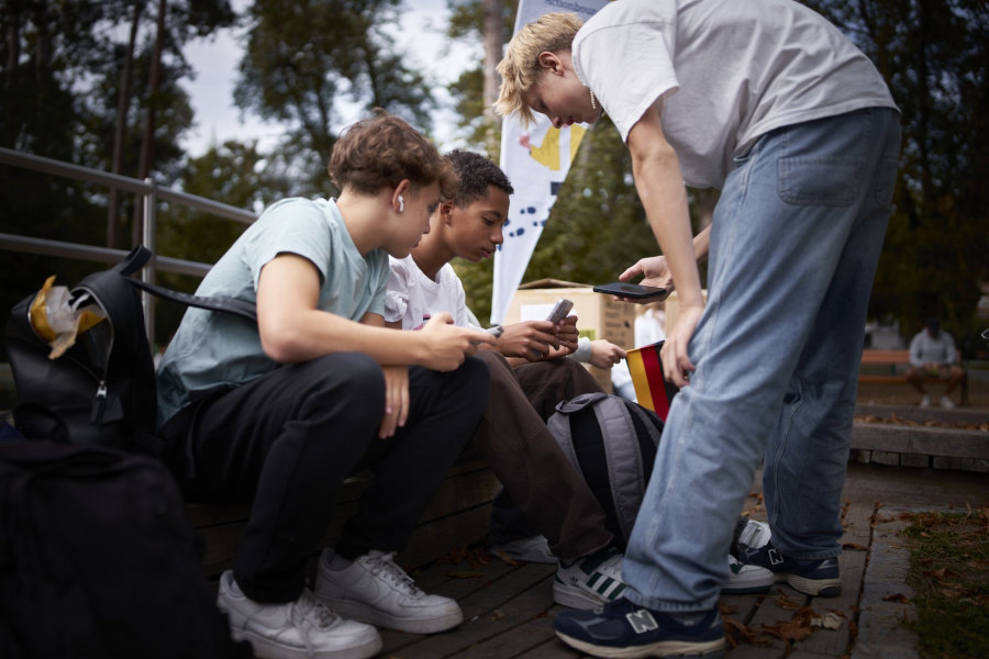
[[[153,254],[156,246],[156,209],[159,199],[203,211],[211,215],[243,222],[245,224],[251,224],[257,219],[256,213],[244,209],[238,209],[230,204],[213,201],[212,199],[207,199],[204,197],[198,197],[196,194],[189,194],[188,192],[181,192],[179,190],[159,188],[154,180],[149,178],[140,181],[125,176],[108,174],[90,167],[81,167],[79,165],[63,163],[60,160],[35,156],[34,154],[10,148],[0,147],[0,165],[12,165],[14,167],[22,167],[42,174],[52,174],[64,178],[107,186],[126,192],[134,192],[138,196],[138,201],[142,202],[140,216],[142,242]],[[110,249],[107,247],[82,245],[79,243],[65,243],[62,241],[47,241],[7,233],[0,233],[0,249],[102,263],[116,263],[126,255],[126,252],[122,249]],[[202,277],[211,267],[212,266],[209,264],[155,256],[148,261],[147,266],[141,270],[141,279],[154,283],[157,270]],[[151,345],[154,345],[155,312],[154,306],[152,305],[151,295],[142,293],[142,303],[144,305],[144,319],[147,327],[148,342]]]

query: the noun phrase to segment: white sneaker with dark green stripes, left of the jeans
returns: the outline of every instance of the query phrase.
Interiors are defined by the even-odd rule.
[[[614,547],[578,559],[569,566],[556,568],[553,600],[573,608],[594,608],[621,596],[624,556]]]

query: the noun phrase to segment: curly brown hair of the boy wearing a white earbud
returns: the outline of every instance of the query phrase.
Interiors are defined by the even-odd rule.
[[[330,178],[343,190],[377,194],[409,179],[419,190],[440,183],[444,197],[454,194],[459,185],[449,160],[403,120],[384,110],[352,124],[333,145]]]

